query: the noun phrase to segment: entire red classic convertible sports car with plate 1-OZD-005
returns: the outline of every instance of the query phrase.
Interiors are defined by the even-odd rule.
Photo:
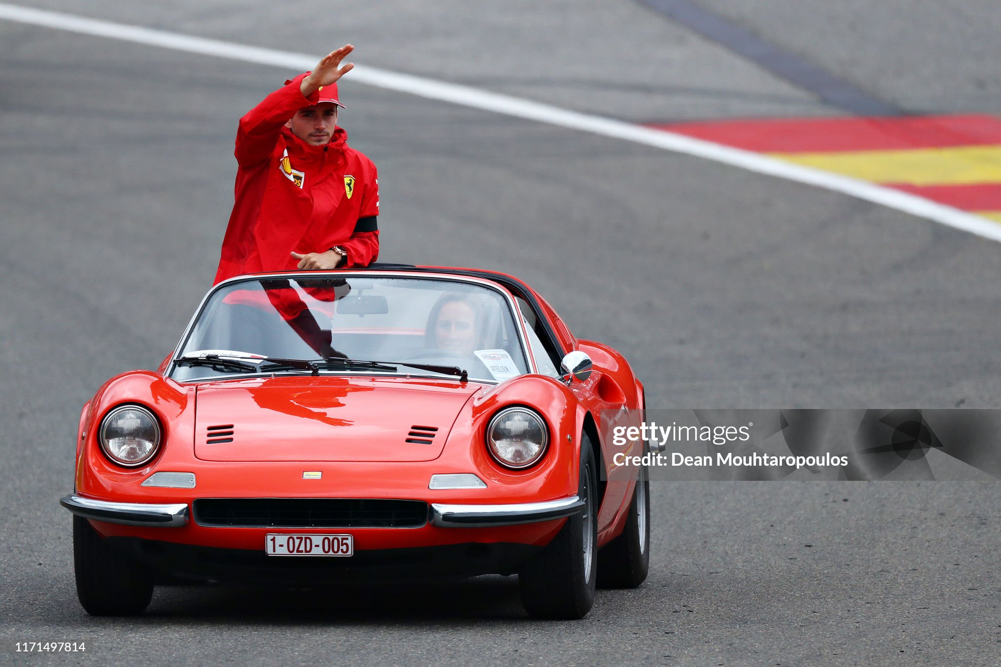
[[[314,585],[519,575],[581,618],[647,576],[649,482],[617,467],[643,385],[491,271],[377,265],[216,285],[157,369],[80,415],[80,603],[135,614],[164,577]]]

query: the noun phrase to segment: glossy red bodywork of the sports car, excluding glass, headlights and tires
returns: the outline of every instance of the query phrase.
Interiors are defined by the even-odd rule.
[[[622,355],[607,345],[575,339],[548,303],[517,282],[542,304],[542,315],[564,352],[576,349],[591,356],[594,372],[590,378],[570,385],[542,375],[523,375],[499,384],[347,375],[179,383],[164,376],[172,359],[168,355],[156,372],[131,371],[110,379],[84,406],[75,492],[81,498],[110,502],[189,506],[198,498],[545,502],[577,494],[580,446],[582,435],[588,433],[600,446],[600,465],[607,476],[598,526],[599,545],[604,545],[622,532],[636,482],[636,469],[616,467],[613,456],[618,451],[637,452],[604,442],[602,434],[617,425],[639,425],[645,407],[643,388]],[[158,453],[138,468],[112,463],[97,437],[103,417],[128,403],[151,410],[163,429]],[[512,405],[531,407],[549,422],[550,449],[525,470],[500,466],[485,444],[487,422],[499,409]],[[234,425],[233,442],[209,443],[206,429],[213,425]],[[414,425],[437,427],[433,443],[406,443],[407,431]],[[140,485],[156,471],[194,473],[197,485],[193,489]],[[304,472],[321,476],[303,479]],[[469,472],[482,479],[486,488],[428,488],[431,475]],[[352,534],[357,551],[468,542],[543,546],[565,522],[562,518],[476,528],[428,522],[419,528],[338,528],[335,532]],[[243,550],[261,550],[268,532],[331,532],[208,527],[195,521],[171,528],[93,519],[91,525],[105,537]]]

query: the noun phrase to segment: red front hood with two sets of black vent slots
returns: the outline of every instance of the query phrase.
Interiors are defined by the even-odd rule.
[[[278,377],[197,390],[204,461],[430,461],[481,385],[413,378]]]

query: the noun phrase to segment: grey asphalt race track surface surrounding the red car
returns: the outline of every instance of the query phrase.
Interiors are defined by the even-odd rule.
[[[1001,112],[993,3],[700,0],[905,112]],[[34,6],[81,11],[75,4]],[[332,7],[332,11],[331,11]],[[634,122],[840,115],[639,2],[88,3]],[[157,590],[88,617],[80,406],[209,285],[236,119],[291,72],[0,22],[0,663],[997,664],[996,483],[655,483],[651,575],[537,622],[514,577]],[[509,271],[624,351],[651,407],[999,407],[1001,246],[662,150],[341,85],[382,259]],[[810,545],[810,546],[807,546]],[[35,659],[39,659],[35,656]]]

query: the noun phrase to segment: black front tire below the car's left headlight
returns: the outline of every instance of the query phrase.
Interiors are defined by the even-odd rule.
[[[90,522],[73,516],[76,595],[91,616],[141,614],[153,598],[153,572],[108,548]]]

